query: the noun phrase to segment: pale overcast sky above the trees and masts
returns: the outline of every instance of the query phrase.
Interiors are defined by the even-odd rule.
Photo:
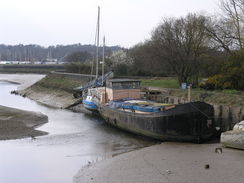
[[[97,6],[107,45],[131,47],[163,17],[215,13],[219,0],[0,0],[0,44],[93,44]]]

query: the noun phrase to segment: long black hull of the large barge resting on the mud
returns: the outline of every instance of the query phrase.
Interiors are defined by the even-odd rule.
[[[152,114],[126,112],[100,107],[107,123],[162,141],[203,142],[213,134],[213,107],[203,102],[176,105],[175,108]]]

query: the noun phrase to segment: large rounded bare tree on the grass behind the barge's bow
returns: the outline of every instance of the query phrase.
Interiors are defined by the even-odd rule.
[[[163,60],[178,77],[179,84],[197,82],[199,58],[208,44],[205,16],[188,14],[185,18],[168,18],[154,30],[155,42]]]

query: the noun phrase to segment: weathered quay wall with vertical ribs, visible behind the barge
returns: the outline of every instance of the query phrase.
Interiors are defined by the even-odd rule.
[[[183,104],[187,102],[186,98],[165,95],[147,95],[149,100],[162,103]],[[232,107],[218,104],[211,104],[214,107],[215,125],[221,128],[221,131],[228,131],[234,125],[244,120],[244,108]]]

